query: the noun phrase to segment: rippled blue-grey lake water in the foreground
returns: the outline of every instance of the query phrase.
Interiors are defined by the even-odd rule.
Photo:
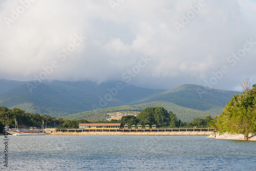
[[[8,169],[256,170],[255,141],[205,137],[8,136]]]

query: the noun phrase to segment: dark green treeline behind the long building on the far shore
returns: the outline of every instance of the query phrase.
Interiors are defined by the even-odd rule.
[[[15,127],[15,119],[17,121],[19,128],[28,128],[30,126],[36,126],[39,129],[42,125],[42,120],[45,122],[45,126],[53,127],[56,126],[58,128],[78,128],[79,123],[122,123],[122,125],[127,124],[129,127],[131,125],[139,125],[145,126],[149,125],[157,125],[157,127],[206,127],[209,126],[209,122],[213,119],[211,116],[207,116],[205,119],[195,118],[193,122],[186,123],[178,120],[176,115],[173,112],[167,112],[162,107],[149,107],[142,110],[137,116],[128,115],[123,116],[120,120],[111,120],[111,121],[91,121],[86,119],[79,120],[64,120],[62,118],[56,119],[55,117],[51,117],[49,115],[39,115],[26,113],[23,110],[14,108],[10,110],[5,106],[0,106],[0,128],[4,126],[4,114],[8,114],[8,126],[10,128]]]

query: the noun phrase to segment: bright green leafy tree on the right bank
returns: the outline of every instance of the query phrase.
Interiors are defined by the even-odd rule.
[[[256,84],[242,95],[234,95],[212,126],[221,134],[243,134],[245,140],[248,140],[248,135],[256,132]]]

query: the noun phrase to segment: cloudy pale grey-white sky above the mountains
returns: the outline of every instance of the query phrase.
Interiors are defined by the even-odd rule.
[[[1,1],[0,79],[256,83],[256,2]]]

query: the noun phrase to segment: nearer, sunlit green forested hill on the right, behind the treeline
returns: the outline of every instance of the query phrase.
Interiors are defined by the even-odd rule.
[[[208,115],[212,117],[220,115],[224,106],[234,94],[241,94],[241,92],[209,89],[194,84],[185,84],[131,105],[87,111],[68,115],[64,118],[99,120],[108,117],[107,113],[110,112],[125,110],[141,111],[150,106],[163,106],[167,111],[174,112],[178,119],[184,122],[190,122],[197,117],[205,118]]]

